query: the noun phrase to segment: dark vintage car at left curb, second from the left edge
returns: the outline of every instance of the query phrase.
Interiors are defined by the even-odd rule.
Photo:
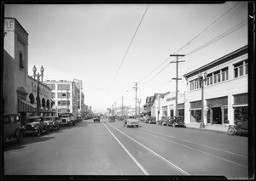
[[[41,136],[41,133],[48,133],[49,127],[44,122],[44,116],[30,116],[27,119],[27,123],[24,126],[25,134],[34,133],[37,136]]]

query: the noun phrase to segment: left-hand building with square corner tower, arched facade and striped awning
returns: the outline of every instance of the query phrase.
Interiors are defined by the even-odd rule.
[[[20,114],[24,124],[27,116],[38,113],[38,100],[39,113],[51,114],[49,88],[40,83],[34,99],[38,82],[28,76],[28,33],[15,18],[4,18],[3,38],[3,113]]]

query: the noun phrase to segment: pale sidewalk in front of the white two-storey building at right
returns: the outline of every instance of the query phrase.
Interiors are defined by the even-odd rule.
[[[186,123],[187,128],[199,129],[202,131],[212,131],[218,133],[227,133],[229,126],[217,125],[217,124],[207,124],[205,128],[200,128],[200,123]]]

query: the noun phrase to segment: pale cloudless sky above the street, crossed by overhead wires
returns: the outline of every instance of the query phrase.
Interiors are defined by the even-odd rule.
[[[5,4],[28,35],[28,75],[79,79],[84,104],[141,107],[154,93],[179,91],[183,75],[247,45],[247,2],[220,4]],[[138,104],[137,104],[138,105]]]

